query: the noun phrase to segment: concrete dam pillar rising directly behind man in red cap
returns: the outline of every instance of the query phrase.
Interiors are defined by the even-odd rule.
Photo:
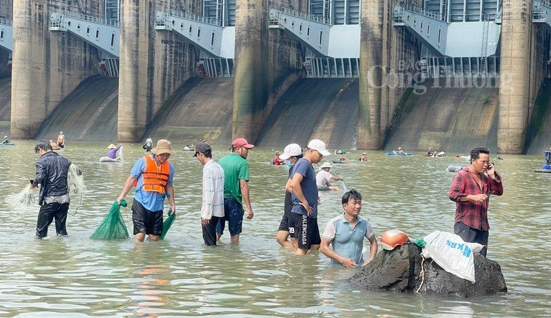
[[[236,1],[236,68],[233,138],[254,142],[266,116],[268,87],[267,1]]]

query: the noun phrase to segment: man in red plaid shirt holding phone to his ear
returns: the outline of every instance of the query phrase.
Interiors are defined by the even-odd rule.
[[[470,166],[453,177],[450,200],[455,201],[454,233],[465,242],[484,245],[481,255],[488,251],[488,203],[490,195],[502,195],[501,177],[490,162],[490,151],[485,147],[470,151]]]

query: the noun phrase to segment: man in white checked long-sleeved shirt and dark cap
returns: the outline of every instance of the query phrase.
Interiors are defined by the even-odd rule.
[[[224,170],[212,160],[212,149],[205,142],[195,147],[195,157],[202,168],[202,238],[206,245],[216,245],[216,225],[224,217]]]

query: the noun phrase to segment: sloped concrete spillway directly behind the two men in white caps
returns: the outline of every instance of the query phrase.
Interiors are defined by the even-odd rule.
[[[319,138],[331,148],[354,148],[357,107],[357,78],[302,78],[275,104],[256,144],[306,147]]]

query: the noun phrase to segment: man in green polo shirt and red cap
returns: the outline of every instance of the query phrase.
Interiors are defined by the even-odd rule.
[[[216,226],[216,240],[224,233],[228,222],[231,244],[239,243],[239,234],[242,231],[243,210],[242,201],[247,205],[247,219],[253,218],[253,208],[249,199],[249,162],[247,155],[250,145],[245,138],[237,138],[231,142],[231,153],[220,160],[218,164],[224,170],[224,217]]]

